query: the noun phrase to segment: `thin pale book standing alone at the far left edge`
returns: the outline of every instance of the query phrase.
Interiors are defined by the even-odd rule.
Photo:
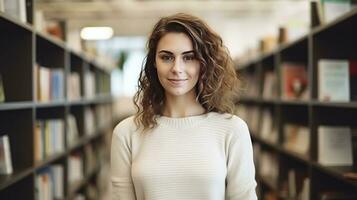
[[[12,174],[12,161],[9,136],[0,137],[0,174]]]

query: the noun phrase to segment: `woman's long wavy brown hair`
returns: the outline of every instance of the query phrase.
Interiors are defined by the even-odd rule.
[[[156,117],[162,114],[165,91],[155,68],[155,56],[160,39],[167,33],[184,33],[192,42],[195,58],[200,63],[200,75],[196,85],[197,100],[206,112],[234,112],[238,95],[239,79],[228,49],[221,37],[204,21],[188,14],[175,14],[161,18],[149,37],[148,53],[143,63],[138,91],[134,96],[137,108],[135,123],[144,130],[157,124]]]

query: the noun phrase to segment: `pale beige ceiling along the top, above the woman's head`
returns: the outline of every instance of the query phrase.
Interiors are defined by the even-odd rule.
[[[146,35],[160,17],[177,12],[218,24],[234,21],[260,27],[306,11],[306,4],[306,0],[37,0],[36,8],[46,18],[65,20],[70,29],[111,26],[115,35]]]

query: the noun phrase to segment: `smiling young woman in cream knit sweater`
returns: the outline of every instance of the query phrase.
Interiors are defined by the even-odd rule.
[[[148,41],[138,112],[114,129],[113,199],[257,199],[248,127],[233,114],[238,83],[202,20],[162,18]]]

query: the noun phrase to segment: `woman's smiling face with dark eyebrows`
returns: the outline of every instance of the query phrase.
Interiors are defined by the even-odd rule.
[[[200,74],[200,63],[186,34],[164,35],[157,45],[155,63],[166,96],[196,97],[195,85]]]

